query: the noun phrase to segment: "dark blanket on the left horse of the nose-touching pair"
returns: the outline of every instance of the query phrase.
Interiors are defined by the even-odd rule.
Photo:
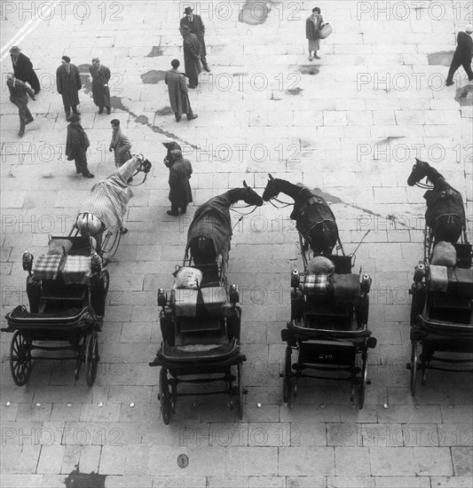
[[[193,216],[193,222],[187,232],[187,249],[191,240],[204,236],[214,241],[217,254],[228,259],[230,240],[232,239],[232,219],[230,217],[231,201],[224,193],[201,205]]]

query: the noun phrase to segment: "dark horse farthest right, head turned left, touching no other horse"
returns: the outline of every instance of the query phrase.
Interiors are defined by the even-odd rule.
[[[433,189],[423,195],[427,203],[425,222],[433,232],[435,242],[445,240],[455,244],[466,223],[461,193],[446,183],[445,177],[437,169],[432,168],[429,163],[415,158],[413,170],[407,178],[407,185],[429,187],[419,183],[424,177],[427,177],[427,180],[433,185]]]

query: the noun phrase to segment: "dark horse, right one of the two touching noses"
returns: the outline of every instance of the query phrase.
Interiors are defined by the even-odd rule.
[[[319,255],[332,254],[338,240],[338,227],[327,201],[307,186],[293,185],[270,174],[263,200],[270,201],[279,193],[285,193],[294,200],[290,218],[296,220],[297,231],[310,244],[312,251]]]

